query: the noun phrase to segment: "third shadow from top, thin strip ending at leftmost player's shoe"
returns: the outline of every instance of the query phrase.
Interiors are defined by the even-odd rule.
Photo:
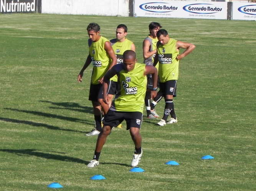
[[[53,125],[47,125],[45,123],[36,123],[36,122],[33,122],[33,121],[16,120],[16,119],[3,118],[3,117],[0,117],[0,121],[11,122],[11,123],[20,123],[20,124],[31,125],[31,126],[35,126],[35,127],[45,127],[47,129],[53,129],[53,130],[73,131],[73,132],[79,132],[79,133],[86,133],[84,131],[77,131],[77,130],[72,130],[72,129],[61,129],[61,128],[53,126]]]

